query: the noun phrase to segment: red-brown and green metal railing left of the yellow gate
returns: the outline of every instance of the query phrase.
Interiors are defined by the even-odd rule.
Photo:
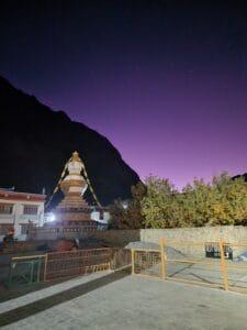
[[[9,287],[131,266],[131,251],[103,248],[12,257]]]

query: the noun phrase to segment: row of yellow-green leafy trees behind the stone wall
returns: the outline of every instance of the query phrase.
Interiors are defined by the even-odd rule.
[[[247,184],[227,174],[211,184],[194,179],[179,193],[166,179],[149,177],[142,200],[142,215],[149,228],[245,224],[247,222]]]

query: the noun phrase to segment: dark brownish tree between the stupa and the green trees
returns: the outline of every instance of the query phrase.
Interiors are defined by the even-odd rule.
[[[110,207],[112,229],[139,229],[144,227],[144,217],[141,213],[141,201],[146,195],[145,185],[139,182],[132,186],[132,199],[127,202],[117,199]]]

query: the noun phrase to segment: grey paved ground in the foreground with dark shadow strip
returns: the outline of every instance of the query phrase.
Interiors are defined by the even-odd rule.
[[[72,286],[69,282],[52,296],[40,293],[37,301],[19,301],[0,315],[0,324],[30,330],[247,329],[247,295],[124,272],[98,276]],[[27,301],[33,302],[23,306]]]

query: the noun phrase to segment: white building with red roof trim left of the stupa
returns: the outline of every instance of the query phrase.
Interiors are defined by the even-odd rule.
[[[45,195],[0,189],[0,241],[14,230],[14,238],[25,240],[29,226],[44,223]]]

